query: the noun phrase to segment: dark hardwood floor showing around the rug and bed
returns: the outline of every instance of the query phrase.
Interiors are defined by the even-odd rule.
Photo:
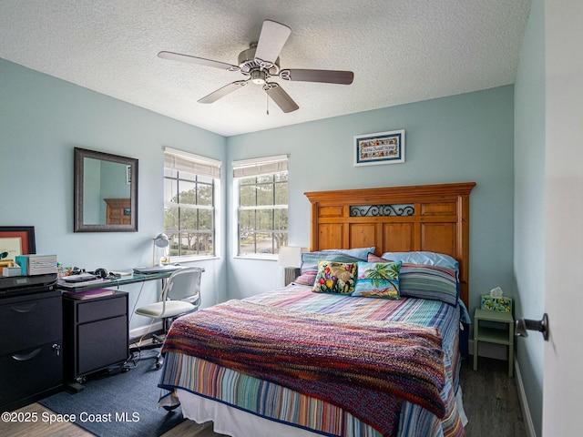
[[[480,357],[478,370],[472,370],[471,358],[462,362],[460,383],[464,408],[469,422],[467,437],[526,437],[525,423],[518,401],[516,381],[508,378],[506,361]],[[19,412],[49,412],[33,403]],[[75,424],[1,423],[0,434],[6,437],[92,437]],[[223,437],[212,431],[211,423],[184,421],[161,437]]]

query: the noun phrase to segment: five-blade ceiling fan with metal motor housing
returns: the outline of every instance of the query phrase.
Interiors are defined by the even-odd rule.
[[[236,80],[229,85],[222,86],[210,93],[209,96],[199,99],[199,103],[213,103],[221,97],[225,97],[233,91],[246,86],[250,82],[263,87],[263,90],[285,113],[299,109],[292,97],[285,92],[277,82],[271,82],[272,77],[283,80],[300,82],[322,82],[327,84],[350,85],[353,83],[352,71],[338,70],[305,70],[305,69],[280,69],[280,52],[285,45],[292,29],[287,25],[281,25],[275,21],[265,20],[261,27],[261,35],[257,43],[251,43],[250,48],[239,54],[239,64],[233,66],[224,62],[204,59],[197,56],[181,55],[179,53],[159,52],[163,59],[189,62],[200,66],[213,66],[229,71],[238,71],[243,76],[242,80]]]

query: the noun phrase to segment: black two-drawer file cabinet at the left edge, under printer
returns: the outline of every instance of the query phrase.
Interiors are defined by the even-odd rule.
[[[33,281],[34,284],[28,283]],[[3,412],[63,388],[63,305],[61,292],[54,290],[51,282],[52,277],[0,279],[0,407]]]

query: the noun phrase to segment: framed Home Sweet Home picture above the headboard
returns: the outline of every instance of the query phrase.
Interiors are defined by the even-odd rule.
[[[354,166],[404,162],[404,130],[354,137]]]

